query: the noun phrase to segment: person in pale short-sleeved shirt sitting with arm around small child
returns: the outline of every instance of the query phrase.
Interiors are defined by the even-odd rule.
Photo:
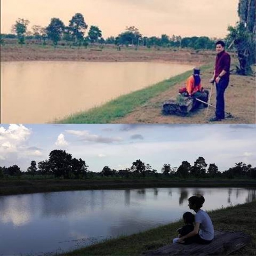
[[[192,196],[188,199],[188,206],[196,212],[194,230],[187,235],[180,237],[178,243],[184,243],[189,238],[190,242],[198,244],[209,244],[214,237],[214,228],[208,213],[201,209],[204,204],[203,196]]]

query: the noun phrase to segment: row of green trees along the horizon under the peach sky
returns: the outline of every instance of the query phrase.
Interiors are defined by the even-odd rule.
[[[194,49],[214,49],[216,38],[210,39],[207,36],[184,37],[171,36],[162,34],[161,37],[142,36],[140,31],[135,26],[126,27],[126,30],[118,36],[110,36],[106,39],[102,37],[102,31],[98,26],[90,26],[88,36],[85,36],[85,31],[88,29],[83,14],[76,13],[69,25],[65,26],[64,22],[59,18],[52,18],[50,24],[46,27],[33,25],[32,31],[28,31],[27,19],[19,18],[12,26],[12,33],[5,34],[1,37],[1,42],[4,43],[4,38],[17,39],[18,43],[24,45],[26,39],[38,40],[43,45],[50,40],[57,47],[60,41],[64,41],[65,45],[87,47],[89,43],[114,44],[114,45],[133,45],[150,47],[189,47]],[[120,48],[119,48],[120,49]]]

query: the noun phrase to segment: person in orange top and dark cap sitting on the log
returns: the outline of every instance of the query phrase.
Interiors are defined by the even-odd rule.
[[[208,102],[208,91],[202,88],[199,68],[194,68],[193,75],[187,78],[186,90],[188,96]],[[206,104],[204,106],[207,107]]]

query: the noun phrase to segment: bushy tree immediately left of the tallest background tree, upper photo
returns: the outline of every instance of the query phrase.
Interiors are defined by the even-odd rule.
[[[64,23],[58,18],[52,18],[50,24],[45,28],[47,36],[56,47],[64,32]]]

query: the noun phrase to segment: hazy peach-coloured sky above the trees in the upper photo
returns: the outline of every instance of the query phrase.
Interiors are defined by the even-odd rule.
[[[67,26],[83,14],[88,28],[98,26],[103,38],[135,26],[142,36],[208,36],[224,38],[239,20],[239,0],[1,0],[1,33],[10,33],[18,18],[47,26],[59,18]]]

